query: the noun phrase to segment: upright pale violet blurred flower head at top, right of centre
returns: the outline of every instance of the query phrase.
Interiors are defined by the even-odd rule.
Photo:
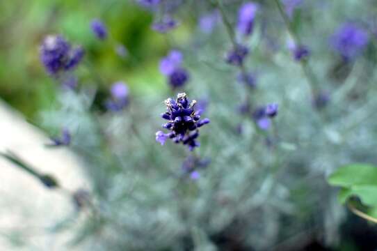
[[[239,8],[239,20],[237,23],[237,29],[242,35],[248,36],[252,33],[257,9],[258,5],[252,2],[244,3],[241,8]]]

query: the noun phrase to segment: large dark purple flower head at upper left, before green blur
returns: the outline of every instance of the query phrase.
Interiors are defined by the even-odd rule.
[[[63,36],[50,35],[43,40],[40,60],[49,74],[56,75],[65,68],[70,50],[70,43]]]

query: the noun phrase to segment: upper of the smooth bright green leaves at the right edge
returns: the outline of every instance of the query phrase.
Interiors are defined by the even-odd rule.
[[[367,164],[352,164],[339,167],[328,178],[330,185],[350,188],[353,185],[377,185],[377,167]]]

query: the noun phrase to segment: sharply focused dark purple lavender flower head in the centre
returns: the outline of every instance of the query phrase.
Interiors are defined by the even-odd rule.
[[[190,102],[186,98],[186,93],[178,93],[176,100],[171,98],[165,100],[167,112],[161,114],[161,116],[168,120],[163,128],[170,132],[166,134],[161,131],[157,132],[157,142],[163,144],[166,139],[170,138],[177,144],[185,144],[190,151],[199,146],[196,140],[199,137],[198,128],[209,123],[209,119],[200,119],[200,114],[195,112],[195,104],[195,100]]]

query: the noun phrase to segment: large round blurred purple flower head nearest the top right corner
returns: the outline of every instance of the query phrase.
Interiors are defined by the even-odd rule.
[[[367,46],[369,36],[367,31],[351,23],[343,24],[331,37],[332,50],[338,52],[344,60],[358,56]]]

